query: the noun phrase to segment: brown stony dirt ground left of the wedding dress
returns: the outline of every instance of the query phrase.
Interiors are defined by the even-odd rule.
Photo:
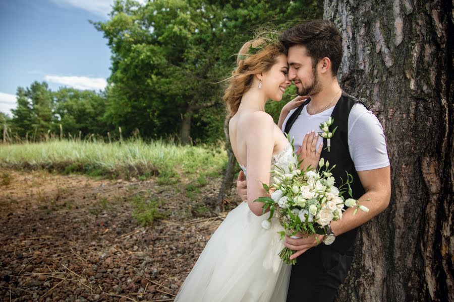
[[[184,187],[153,179],[2,173],[0,301],[173,301],[226,215],[194,216]],[[219,183],[198,196],[215,198]],[[159,200],[165,218],[141,226],[136,196]]]

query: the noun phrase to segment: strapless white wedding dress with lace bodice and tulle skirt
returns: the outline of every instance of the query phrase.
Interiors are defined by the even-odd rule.
[[[288,143],[273,155],[271,164],[288,167],[295,162]],[[242,167],[246,174],[246,168]],[[284,247],[283,228],[275,217],[271,228],[243,202],[233,209],[206,244],[194,268],[180,288],[178,302],[284,302],[291,266],[278,254]]]

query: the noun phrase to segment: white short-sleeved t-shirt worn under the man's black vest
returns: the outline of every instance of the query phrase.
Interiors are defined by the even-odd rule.
[[[282,131],[295,110],[296,108],[287,115],[282,124]],[[304,106],[289,131],[290,137],[295,138],[295,150],[298,150],[298,147],[302,145],[307,132],[312,130],[321,132],[320,124],[328,120],[333,110],[334,107],[331,107],[318,114],[310,115],[307,112],[307,105]],[[317,147],[322,141],[323,138],[319,136]],[[383,127],[377,117],[361,103],[353,105],[350,111],[348,143],[350,157],[355,164],[356,171],[373,170],[389,166]]]

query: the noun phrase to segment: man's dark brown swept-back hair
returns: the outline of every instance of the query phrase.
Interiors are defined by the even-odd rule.
[[[337,75],[342,61],[342,37],[331,21],[313,20],[297,24],[282,33],[280,42],[287,49],[294,45],[305,46],[314,67],[322,58],[328,57],[331,60],[332,75]]]

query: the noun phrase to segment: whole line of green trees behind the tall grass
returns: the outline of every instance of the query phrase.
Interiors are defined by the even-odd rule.
[[[253,29],[281,30],[322,14],[320,0],[116,1],[107,21],[90,21],[111,50],[105,91],[19,87],[12,119],[0,116],[2,127],[10,127],[2,139],[4,132],[42,138],[49,129],[107,137],[119,135],[119,127],[124,137],[175,137],[184,144],[223,139],[223,85],[213,83],[229,76]],[[276,120],[282,105],[267,106]]]

